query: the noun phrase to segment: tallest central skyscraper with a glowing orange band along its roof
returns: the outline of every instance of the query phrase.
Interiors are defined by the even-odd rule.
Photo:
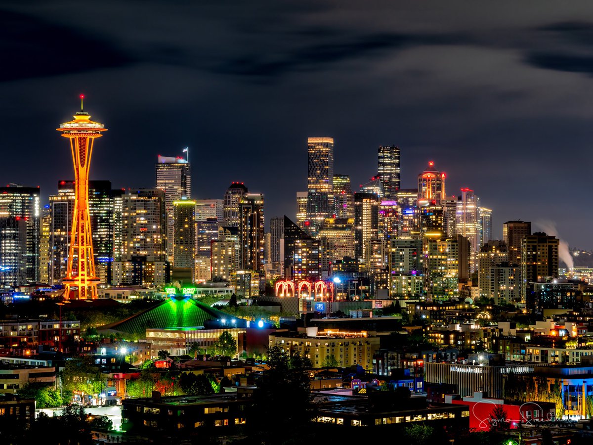
[[[334,211],[333,148],[333,138],[308,138],[307,220],[313,234]]]

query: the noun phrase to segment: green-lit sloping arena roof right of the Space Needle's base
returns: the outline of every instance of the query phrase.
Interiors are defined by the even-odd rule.
[[[183,329],[204,326],[206,320],[229,317],[190,297],[171,297],[155,307],[146,309],[119,322],[101,326],[99,331],[146,335],[147,328]]]

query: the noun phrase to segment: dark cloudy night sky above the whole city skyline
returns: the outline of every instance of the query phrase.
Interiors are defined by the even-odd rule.
[[[190,147],[193,198],[232,181],[295,215],[307,136],[336,173],[402,187],[428,160],[502,223],[555,224],[593,248],[593,4],[588,1],[44,1],[0,7],[0,180],[72,178],[55,128],[85,110],[109,129],[91,179],[154,187],[157,155]]]

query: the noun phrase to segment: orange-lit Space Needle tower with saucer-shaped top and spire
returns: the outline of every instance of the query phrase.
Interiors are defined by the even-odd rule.
[[[74,120],[60,124],[56,130],[70,140],[72,164],[74,165],[74,214],[72,215],[72,233],[68,250],[68,269],[65,278],[64,297],[87,300],[97,298],[95,258],[93,253],[93,234],[91,214],[88,204],[88,173],[91,167],[91,155],[96,138],[107,131],[102,123],[93,122],[91,116],[82,110],[74,115]]]

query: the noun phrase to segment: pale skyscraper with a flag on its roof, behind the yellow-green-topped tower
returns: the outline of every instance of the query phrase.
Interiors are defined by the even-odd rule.
[[[173,202],[186,196],[192,197],[192,176],[190,174],[190,164],[187,159],[181,157],[158,157],[158,163],[155,166],[157,174],[157,189],[165,192],[165,212],[167,215],[167,256],[169,261],[173,261]]]

